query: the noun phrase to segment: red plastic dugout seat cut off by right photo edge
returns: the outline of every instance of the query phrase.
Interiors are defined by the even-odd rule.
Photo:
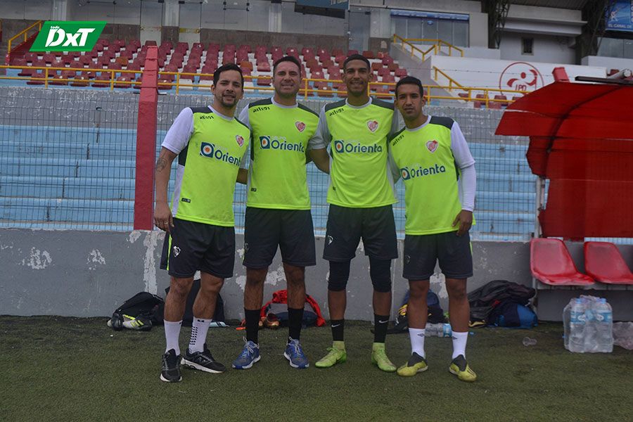
[[[633,284],[633,273],[618,247],[610,242],[584,243],[584,269],[601,283]]]

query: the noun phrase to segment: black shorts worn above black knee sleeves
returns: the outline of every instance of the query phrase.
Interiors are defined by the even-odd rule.
[[[398,257],[395,221],[391,205],[351,208],[330,205],[323,258],[349,261],[363,239],[365,255],[378,260]]]

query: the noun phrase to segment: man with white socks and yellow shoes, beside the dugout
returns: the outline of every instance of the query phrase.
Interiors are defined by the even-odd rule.
[[[453,356],[449,371],[461,381],[477,376],[466,362],[468,316],[466,279],[473,276],[468,230],[475,205],[475,160],[459,124],[448,117],[422,113],[422,84],[404,77],[396,84],[396,104],[406,127],[390,137],[390,162],[405,188],[404,270],[409,280],[411,357],[398,368],[401,376],[428,369],[424,352],[428,316],[426,294],[439,260],[446,277]],[[459,181],[458,181],[459,180]],[[459,185],[459,186],[458,186]]]

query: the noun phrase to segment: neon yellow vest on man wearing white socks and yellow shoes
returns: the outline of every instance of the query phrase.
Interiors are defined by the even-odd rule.
[[[421,129],[404,128],[389,141],[404,182],[405,234],[457,230],[452,224],[461,211],[461,203],[459,170],[451,151],[452,124],[453,120],[447,117],[431,117]]]

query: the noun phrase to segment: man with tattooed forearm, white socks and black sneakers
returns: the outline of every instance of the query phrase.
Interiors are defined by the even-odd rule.
[[[244,79],[237,65],[213,74],[213,104],[185,108],[174,120],[156,162],[155,225],[167,231],[160,267],[171,276],[165,299],[165,339],[160,379],[181,381],[180,363],[201,371],[226,369],[213,359],[205,339],[224,279],[233,275],[235,231],[233,196],[250,130],[234,118]],[[171,164],[178,156],[172,209],[167,205]],[[193,303],[193,327],[181,358],[179,334],[193,275],[200,291]],[[180,362],[182,359],[182,362]]]

